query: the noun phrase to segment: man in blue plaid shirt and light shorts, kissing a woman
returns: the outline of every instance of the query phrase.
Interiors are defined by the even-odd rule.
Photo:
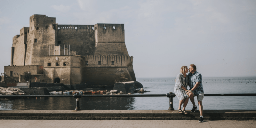
[[[202,75],[196,71],[196,65],[191,64],[189,66],[189,73],[187,75],[188,77],[188,85],[189,90],[187,91],[187,94],[189,96],[190,101],[193,104],[193,108],[191,112],[195,112],[197,107],[195,104],[194,97],[197,97],[199,111],[200,111],[200,119],[198,122],[204,122],[203,118],[203,105],[202,100],[204,99],[204,89],[202,84]]]

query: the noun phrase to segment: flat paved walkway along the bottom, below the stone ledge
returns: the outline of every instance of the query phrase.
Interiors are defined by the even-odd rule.
[[[256,128],[256,121],[196,120],[0,120],[0,128]]]

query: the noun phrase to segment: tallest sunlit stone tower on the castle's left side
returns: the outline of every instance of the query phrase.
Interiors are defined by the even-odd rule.
[[[55,21],[54,17],[45,15],[30,16],[25,65],[44,65],[44,56],[49,55],[49,46],[57,44]]]

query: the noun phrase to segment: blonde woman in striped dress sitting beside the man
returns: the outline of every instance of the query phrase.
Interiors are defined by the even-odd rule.
[[[188,104],[188,95],[187,95],[188,78],[186,73],[188,73],[188,67],[182,66],[180,68],[180,74],[178,74],[176,77],[176,82],[174,87],[174,93],[177,96],[177,98],[180,100],[178,112],[184,113],[184,114],[188,114],[185,110]],[[181,110],[182,104],[183,104],[183,108]]]

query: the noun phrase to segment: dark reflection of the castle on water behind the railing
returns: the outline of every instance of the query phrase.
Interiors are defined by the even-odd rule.
[[[88,97],[80,98],[82,110],[132,110],[133,97]],[[0,101],[0,110],[74,110],[73,97],[24,98]]]

